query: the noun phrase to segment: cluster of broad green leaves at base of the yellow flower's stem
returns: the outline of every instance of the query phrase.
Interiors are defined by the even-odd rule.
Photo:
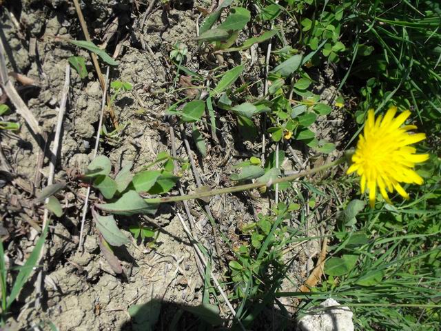
[[[96,157],[88,165],[83,180],[101,193],[98,203],[92,210],[96,230],[101,236],[100,247],[105,259],[116,273],[121,273],[122,268],[113,250],[130,242],[119,229],[117,217],[155,214],[158,204],[147,203],[143,197],[164,194],[172,190],[180,179],[174,174],[175,161],[183,165],[181,171],[188,168],[186,162],[170,157],[167,152],[158,153],[155,161],[145,165],[143,170],[136,173],[132,173],[133,164],[130,162],[125,164],[118,174],[112,175],[112,163],[104,155]],[[99,211],[105,212],[107,216],[101,215]],[[158,232],[143,225],[130,226],[128,230],[135,239],[139,237],[143,240],[156,239],[158,236]],[[154,248],[154,241],[150,243],[150,247]]]

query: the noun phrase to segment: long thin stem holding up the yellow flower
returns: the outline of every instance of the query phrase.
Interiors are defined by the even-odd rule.
[[[317,172],[320,172],[322,170],[326,170],[328,168],[332,168],[338,164],[344,163],[346,161],[347,157],[341,157],[340,159],[337,159],[336,161],[326,163],[324,165],[320,165],[320,167],[305,170],[302,172],[299,172],[298,174],[292,174],[291,176],[285,176],[280,177],[277,179],[274,179],[272,181],[268,181],[267,183],[262,182],[256,182],[251,184],[245,184],[245,185],[238,185],[233,186],[232,188],[216,188],[214,190],[207,190],[205,192],[198,192],[194,194],[187,194],[187,195],[178,195],[176,197],[161,197],[161,198],[150,198],[150,199],[144,199],[147,203],[164,203],[164,202],[177,202],[177,201],[184,201],[184,200],[194,200],[194,199],[203,199],[207,197],[213,197],[214,195],[220,195],[220,194],[227,194],[232,192],[241,192],[241,191],[247,191],[252,190],[253,188],[261,188],[262,186],[269,186],[276,183],[285,183],[287,181],[294,181],[296,179],[299,179],[301,177],[309,176],[311,174],[316,174]]]

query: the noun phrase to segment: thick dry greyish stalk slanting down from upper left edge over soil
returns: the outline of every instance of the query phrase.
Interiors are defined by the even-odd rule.
[[[34,117],[34,114],[29,110],[28,106],[24,103],[24,101],[19,96],[17,90],[15,90],[12,85],[9,77],[8,70],[6,69],[6,61],[5,61],[5,49],[3,48],[3,42],[0,39],[0,79],[1,79],[1,87],[5,90],[6,94],[10,101],[14,104],[15,111],[23,117],[23,119],[28,124],[29,128],[34,132],[34,134],[41,134],[43,131],[39,126],[39,122]]]

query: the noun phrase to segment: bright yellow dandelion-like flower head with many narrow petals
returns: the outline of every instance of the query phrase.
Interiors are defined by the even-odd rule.
[[[426,139],[424,133],[411,134],[408,131],[416,126],[402,126],[411,112],[405,110],[394,118],[397,108],[392,106],[382,118],[375,119],[373,109],[369,110],[365,130],[358,138],[353,164],[348,174],[357,172],[360,178],[361,192],[369,189],[369,203],[373,208],[376,189],[387,203],[391,203],[387,191],[396,190],[404,199],[409,194],[400,183],[421,185],[422,178],[413,170],[416,163],[429,159],[429,154],[415,154],[416,148],[409,145]]]

